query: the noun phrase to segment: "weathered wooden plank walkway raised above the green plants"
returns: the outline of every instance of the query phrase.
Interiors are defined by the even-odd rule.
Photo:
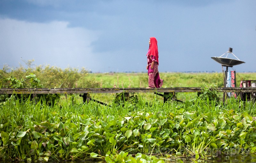
[[[201,92],[200,87],[178,88],[1,88],[0,94],[83,94],[83,93],[170,93],[170,92]],[[217,92],[252,93],[253,87],[217,88]]]

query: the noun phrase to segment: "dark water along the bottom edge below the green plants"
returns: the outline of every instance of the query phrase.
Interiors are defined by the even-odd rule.
[[[172,158],[172,159],[166,159],[167,163],[199,163],[199,162],[208,162],[208,163],[256,163],[256,155],[250,154],[250,155],[219,155],[217,157],[208,157],[208,159],[198,159],[196,160],[193,157],[186,158],[186,157],[180,157],[180,158]],[[38,163],[38,162],[27,162],[27,161],[1,161],[1,163]],[[49,160],[47,163],[106,163],[104,160],[90,160],[90,161],[83,161],[83,160],[76,160],[76,161],[52,161]]]

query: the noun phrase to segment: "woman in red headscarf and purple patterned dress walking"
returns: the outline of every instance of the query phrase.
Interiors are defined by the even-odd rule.
[[[158,73],[158,47],[157,40],[155,37],[149,38],[149,48],[148,48],[148,87],[147,88],[160,88],[163,85],[162,79],[160,79]]]

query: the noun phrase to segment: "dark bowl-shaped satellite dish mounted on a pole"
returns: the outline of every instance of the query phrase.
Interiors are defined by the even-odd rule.
[[[245,63],[244,61],[239,60],[235,56],[235,54],[233,54],[233,55],[236,57],[237,60],[236,59],[232,59],[232,58],[227,58],[229,53],[233,54],[232,53],[232,48],[229,48],[229,50],[226,53],[222,54],[220,57],[211,57],[211,58],[213,60],[215,60],[216,62],[220,63],[222,66],[228,66],[228,67],[233,67],[235,65],[239,65],[239,64]],[[225,54],[227,54],[226,57],[225,58],[222,57]]]

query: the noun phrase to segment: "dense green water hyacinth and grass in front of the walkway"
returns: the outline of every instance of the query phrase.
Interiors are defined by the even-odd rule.
[[[0,159],[158,162],[256,152],[255,103],[136,99],[109,107],[93,101],[47,105],[12,96],[1,103]]]

